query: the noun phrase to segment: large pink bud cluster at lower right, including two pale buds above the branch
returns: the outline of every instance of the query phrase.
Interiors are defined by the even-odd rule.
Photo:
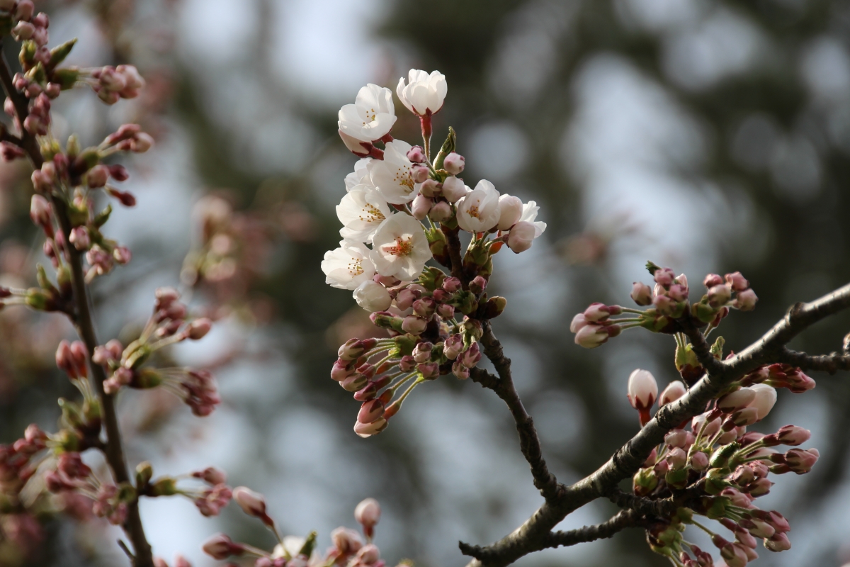
[[[660,405],[677,400],[685,392],[683,383],[670,383],[661,394]],[[648,421],[649,408],[657,394],[652,374],[644,370],[632,372],[628,397],[642,423]],[[685,524],[705,530],[728,567],[743,567],[757,558],[758,539],[774,552],[791,547],[786,536],[791,527],[782,515],[761,510],[754,501],[770,491],[774,484],[768,479],[770,473],[808,473],[819,452],[797,448],[774,451],[779,445],[796,447],[809,439],[808,430],[795,425],[786,425],[768,435],[747,432],[748,426],[768,415],[775,402],[776,390],[767,383],[748,387],[735,384],[715,400],[709,411],[694,417],[689,428],[672,429],[664,443],[653,450],[634,475],[634,493],[653,500],[666,499],[679,506],[671,518],[657,519],[649,525],[649,545],[656,553],[680,567],[713,565],[710,554],[683,538]],[[700,524],[694,515],[718,520],[732,532],[734,541]]]

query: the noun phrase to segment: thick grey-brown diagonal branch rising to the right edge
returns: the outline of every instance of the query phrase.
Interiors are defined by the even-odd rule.
[[[661,407],[655,417],[596,472],[575,485],[559,489],[558,497],[554,501],[544,502],[530,519],[511,534],[487,547],[470,547],[476,553],[468,567],[502,567],[527,553],[547,547],[546,543],[555,525],[588,502],[611,495],[621,480],[630,478],[638,471],[652,449],[664,440],[670,429],[705,411],[708,402],[716,398],[728,384],[768,361],[779,359],[785,343],[808,326],[848,307],[850,285],[843,286],[812,303],[797,303],[783,320],[756,343],[752,343],[733,358],[723,361],[711,355],[708,343],[697,327],[689,320],[684,320],[685,332],[694,344],[694,353],[706,367],[706,376],[690,388],[688,394]]]

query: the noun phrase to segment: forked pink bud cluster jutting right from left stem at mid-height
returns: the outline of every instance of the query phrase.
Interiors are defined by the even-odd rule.
[[[104,383],[107,394],[116,394],[122,386],[137,389],[162,386],[189,405],[196,416],[208,416],[221,402],[215,379],[208,371],[143,366],[157,350],[187,339],[200,340],[210,331],[212,321],[205,317],[186,320],[188,309],[179,298],[173,287],[157,289],[153,315],[141,336],[127,348],[113,339],[95,349],[92,360],[109,372]]]

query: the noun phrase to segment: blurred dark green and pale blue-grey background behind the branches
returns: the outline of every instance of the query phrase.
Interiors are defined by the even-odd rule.
[[[721,334],[741,349],[791,303],[850,281],[850,4],[829,0],[90,0],[41,2],[51,44],[71,37],[77,65],[132,63],[148,86],[104,107],[90,93],[56,105],[59,137],[96,144],[139,122],[157,145],[128,160],[139,205],[116,211],[106,234],[133,262],[94,286],[99,337],[130,337],[157,286],[180,286],[218,319],[203,341],[173,349],[212,367],[224,404],[191,417],[156,392],[122,394],[129,458],[156,473],[216,465],[231,485],[269,499],[282,531],[354,527],[365,496],[382,502],[377,543],[394,564],[464,564],[457,541],[487,543],[541,503],[513,422],[490,391],[443,377],[419,388],[372,439],[352,431],[357,403],[328,371],[339,343],[365,336],[364,311],[324,285],[319,264],[337,246],[334,206],[354,166],[337,109],[366,82],[394,88],[411,67],[445,73],[449,94],[435,140],[452,126],[467,184],[535,200],[548,223],[530,252],[496,257],[492,286],[508,308],[496,334],[514,362],[545,456],[570,482],[637,431],[626,380],[638,367],[661,386],[677,377],[672,337],[628,332],[588,351],[572,315],[587,303],[626,303],[649,281],[647,259],[685,272],[740,269],[760,301]],[[4,46],[16,60],[14,45]],[[396,104],[394,135],[416,144]],[[27,216],[23,164],[0,166],[0,281],[31,285],[41,241]],[[794,346],[838,349],[847,315]],[[71,329],[58,315],[0,313],[0,441],[30,422],[54,428],[55,399],[73,388],[53,362]],[[779,404],[758,426],[813,431],[821,460],[785,476],[764,506],[791,519],[793,548],[760,565],[850,561],[850,380]],[[793,476],[793,475],[792,475]],[[768,503],[769,502],[769,503]],[[201,518],[191,502],[143,503],[156,553],[196,566],[218,530],[268,547],[256,522],[229,507]],[[606,519],[595,502],[563,528]],[[123,565],[120,535],[43,513],[29,533],[2,519],[0,565]],[[24,533],[26,532],[26,533]],[[666,564],[643,534],[536,553],[523,565]]]

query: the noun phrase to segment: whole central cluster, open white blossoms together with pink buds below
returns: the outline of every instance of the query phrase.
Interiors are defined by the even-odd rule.
[[[339,134],[362,159],[346,177],[346,195],[337,206],[343,241],[326,252],[321,269],[329,285],[352,291],[360,307],[371,311],[372,322],[390,335],[352,339],[331,371],[363,403],[354,430],[364,437],[385,428],[416,385],[449,373],[469,376],[481,357],[483,322],[506,304],[484,293],[492,256],[506,244],[524,252],[546,230],[536,220],[535,201],[500,195],[486,179],[470,189],[457,177],[465,159],[455,151],[451,128],[432,160],[431,119],[446,92],[439,71],[411,70],[406,82],[399,81],[399,100],[420,118],[422,146],[393,139],[388,88],[366,85],[353,105],[339,111]],[[471,234],[463,254],[461,230]],[[426,266],[432,258],[450,268],[451,276]]]

